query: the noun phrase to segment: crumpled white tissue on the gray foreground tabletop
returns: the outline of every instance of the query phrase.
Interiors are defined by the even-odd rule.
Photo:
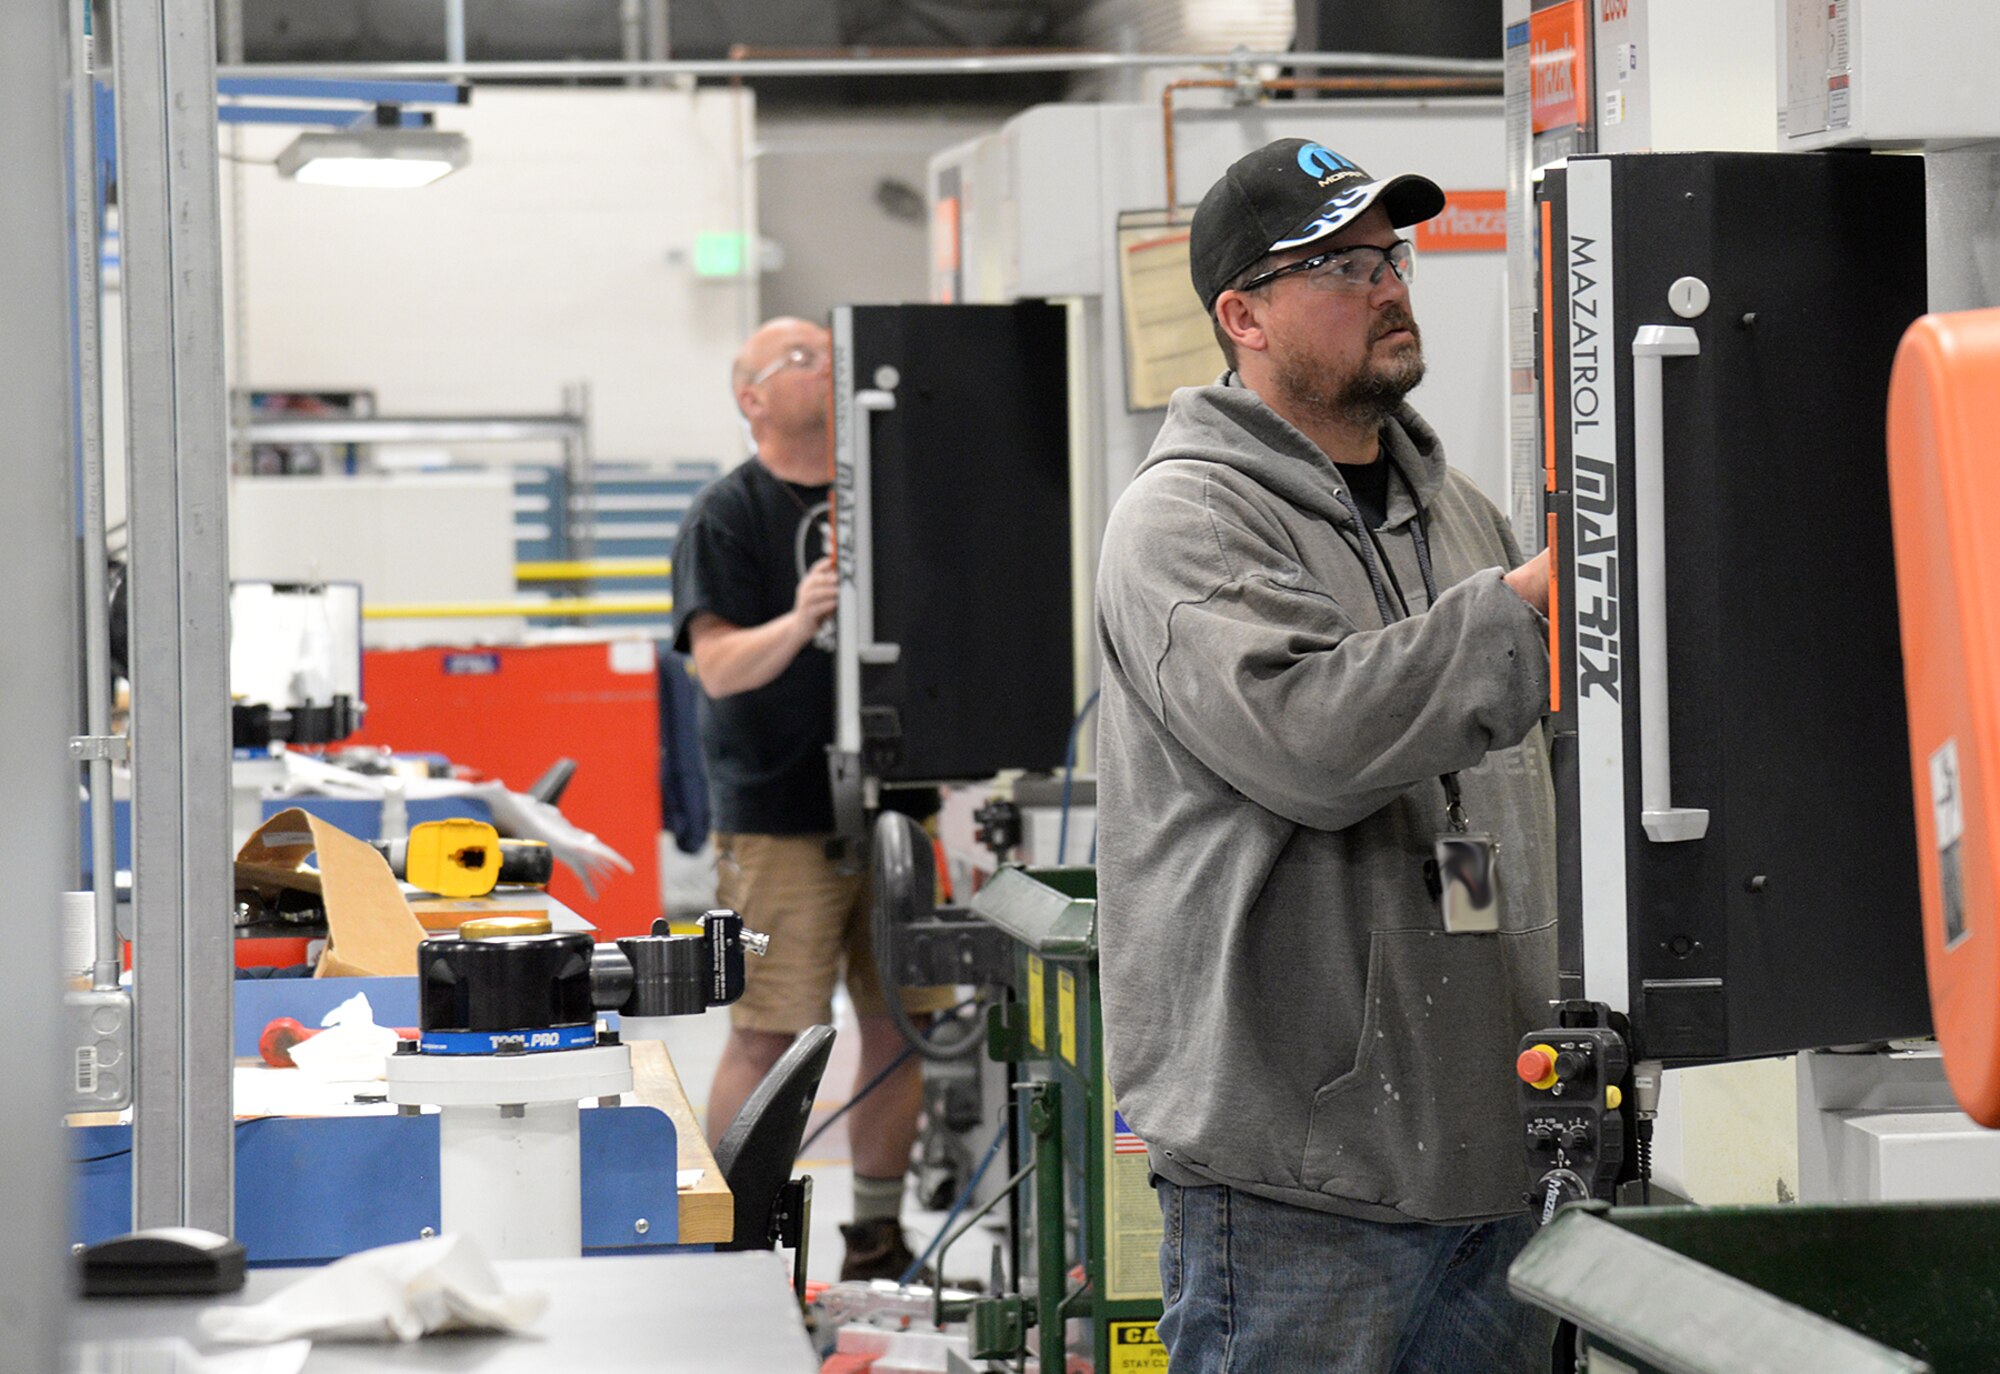
[[[244,1308],[210,1308],[210,1340],[416,1340],[430,1332],[520,1332],[548,1306],[544,1292],[506,1292],[470,1236],[436,1236],[362,1250]]]

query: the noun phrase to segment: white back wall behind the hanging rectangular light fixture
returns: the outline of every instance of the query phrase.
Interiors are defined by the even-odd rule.
[[[520,414],[588,382],[600,458],[738,456],[726,370],[756,280],[698,280],[692,252],[754,222],[752,96],[480,88],[438,126],[470,136],[472,162],[418,190],[244,166],[226,276],[248,384],[364,386],[384,414]],[[244,130],[242,156],[296,134]]]

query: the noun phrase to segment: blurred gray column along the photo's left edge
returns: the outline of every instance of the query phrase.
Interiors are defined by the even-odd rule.
[[[62,1368],[66,1326],[58,930],[76,874],[76,510],[70,434],[62,6],[0,4],[0,1370]]]

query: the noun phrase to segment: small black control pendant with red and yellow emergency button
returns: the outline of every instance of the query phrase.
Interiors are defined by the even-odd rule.
[[[1612,1196],[1626,1166],[1628,1068],[1626,1040],[1610,1026],[1550,1026],[1522,1036],[1514,1074],[1528,1206],[1542,1222],[1568,1202]]]

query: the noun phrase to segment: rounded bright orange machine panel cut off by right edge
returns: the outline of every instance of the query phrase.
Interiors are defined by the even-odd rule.
[[[1960,1106],[2000,1126],[2000,310],[1904,334],[1888,466],[1930,1010]]]

